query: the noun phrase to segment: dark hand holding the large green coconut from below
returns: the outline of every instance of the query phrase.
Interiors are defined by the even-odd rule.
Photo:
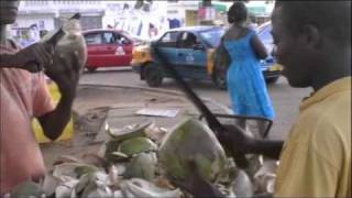
[[[194,197],[222,197],[221,193],[200,175],[194,160],[188,161],[189,174],[184,180],[169,176],[170,183]]]

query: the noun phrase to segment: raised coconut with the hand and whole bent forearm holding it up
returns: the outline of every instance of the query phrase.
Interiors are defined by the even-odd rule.
[[[70,118],[79,75],[87,61],[87,46],[78,19],[79,14],[75,14],[64,22],[64,26],[59,30],[64,35],[59,38],[56,38],[57,33],[48,33],[41,41],[51,43],[53,37],[55,38],[53,63],[45,66],[45,74],[56,82],[62,94],[56,109],[40,118],[45,135],[52,140],[61,135]]]

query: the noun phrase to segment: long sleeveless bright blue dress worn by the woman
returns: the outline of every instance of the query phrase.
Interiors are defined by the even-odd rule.
[[[274,109],[267,95],[260,59],[251,45],[250,31],[244,37],[224,41],[231,56],[227,80],[234,114],[274,119]]]

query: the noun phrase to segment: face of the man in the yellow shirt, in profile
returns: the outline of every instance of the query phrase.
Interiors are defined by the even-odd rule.
[[[276,50],[273,56],[284,66],[283,75],[293,87],[311,86],[311,73],[315,65],[311,53],[300,42],[300,35],[294,35],[284,24],[282,8],[275,8],[272,15],[273,37]]]

